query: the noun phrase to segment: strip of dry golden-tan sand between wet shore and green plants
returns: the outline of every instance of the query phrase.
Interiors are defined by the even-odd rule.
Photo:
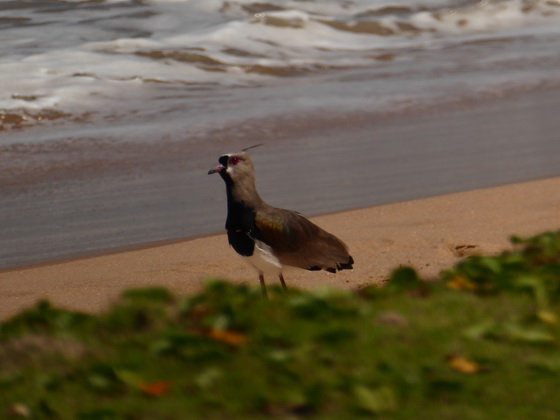
[[[560,228],[560,178],[450,194],[315,217],[343,239],[356,261],[337,274],[291,269],[288,286],[355,289],[383,282],[400,265],[424,278],[460,258],[507,249],[513,234]],[[256,274],[231,250],[225,235],[98,257],[0,271],[0,318],[48,299],[56,305],[98,311],[123,289],[164,286],[196,292],[209,278],[258,284]],[[276,282],[268,279],[268,283]]]

